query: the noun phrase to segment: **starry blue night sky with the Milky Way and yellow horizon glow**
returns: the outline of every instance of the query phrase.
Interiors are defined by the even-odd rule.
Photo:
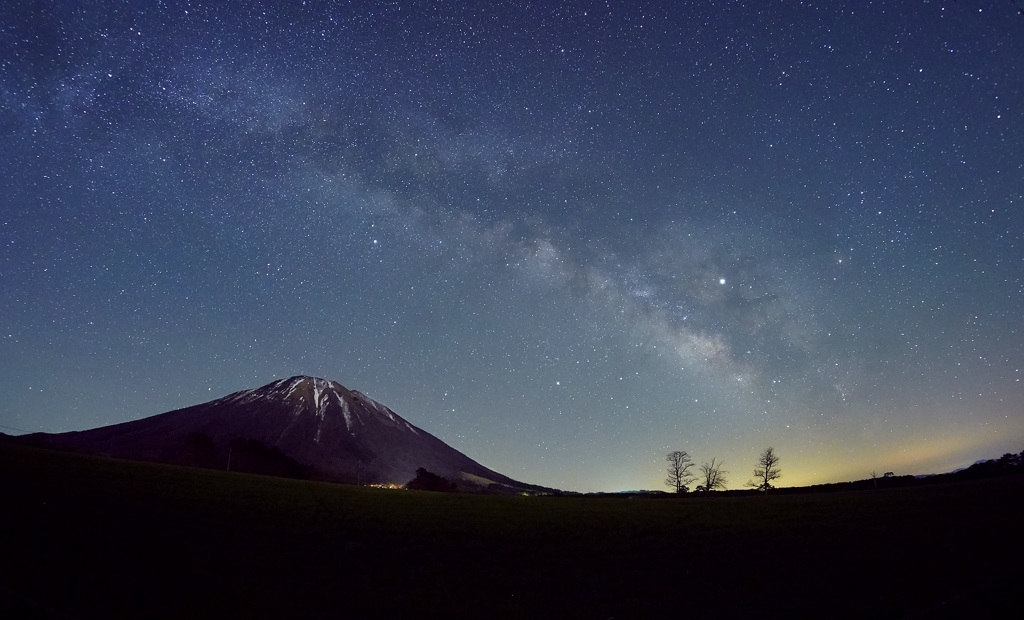
[[[1024,3],[203,4],[0,8],[0,431],[308,374],[577,491],[1024,449]]]

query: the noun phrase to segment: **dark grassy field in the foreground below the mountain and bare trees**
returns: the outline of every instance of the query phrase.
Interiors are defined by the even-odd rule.
[[[996,617],[1022,498],[445,495],[0,443],[0,617]]]

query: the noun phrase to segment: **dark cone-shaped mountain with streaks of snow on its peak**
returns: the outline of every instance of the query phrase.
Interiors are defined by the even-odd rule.
[[[464,489],[547,490],[484,467],[366,395],[307,376],[140,420],[18,439],[117,458],[176,464],[204,460],[208,466],[234,469],[256,455],[280,465],[264,472],[291,466],[357,484],[400,485],[423,467]]]

